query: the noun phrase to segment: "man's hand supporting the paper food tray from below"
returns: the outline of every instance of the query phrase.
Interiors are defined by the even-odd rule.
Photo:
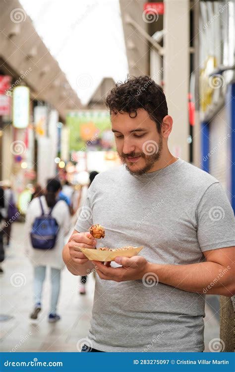
[[[111,267],[110,262],[105,264],[100,261],[92,262],[101,279],[115,282],[142,279],[143,275],[148,272],[149,265],[149,262],[142,256],[116,257],[115,262],[122,265],[121,267]]]

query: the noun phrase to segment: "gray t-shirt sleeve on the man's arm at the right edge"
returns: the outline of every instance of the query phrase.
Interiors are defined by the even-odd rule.
[[[197,238],[203,251],[235,246],[235,217],[221,186],[209,186],[197,207]]]

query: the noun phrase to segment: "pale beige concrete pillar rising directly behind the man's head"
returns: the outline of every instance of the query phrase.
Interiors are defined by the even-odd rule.
[[[175,156],[188,161],[189,0],[164,3],[164,90],[174,120],[169,147]]]

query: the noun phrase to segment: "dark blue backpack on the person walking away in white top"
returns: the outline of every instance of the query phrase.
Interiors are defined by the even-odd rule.
[[[54,248],[59,231],[57,220],[52,217],[51,208],[49,214],[44,213],[43,204],[39,197],[42,214],[36,217],[30,233],[31,244],[35,249],[52,249]]]

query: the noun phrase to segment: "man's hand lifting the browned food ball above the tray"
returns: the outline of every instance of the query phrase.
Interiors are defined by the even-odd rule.
[[[89,232],[75,233],[68,242],[68,250],[72,261],[78,265],[83,265],[89,260],[84,253],[79,251],[79,248],[96,248],[95,238]]]

